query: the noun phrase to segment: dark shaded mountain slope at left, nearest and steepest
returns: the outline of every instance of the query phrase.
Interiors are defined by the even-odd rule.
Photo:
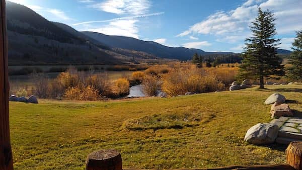
[[[9,64],[120,63],[85,35],[71,34],[25,6],[8,1],[6,9]]]

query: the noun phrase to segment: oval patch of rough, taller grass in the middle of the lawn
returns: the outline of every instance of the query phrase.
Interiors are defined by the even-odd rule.
[[[181,129],[184,127],[198,126],[200,123],[208,122],[213,117],[213,114],[204,113],[153,114],[126,120],[122,125],[122,129]]]

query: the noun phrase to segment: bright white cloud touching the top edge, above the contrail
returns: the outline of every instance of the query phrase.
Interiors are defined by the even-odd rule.
[[[147,0],[107,0],[90,7],[114,14],[142,15],[148,12],[150,6]]]

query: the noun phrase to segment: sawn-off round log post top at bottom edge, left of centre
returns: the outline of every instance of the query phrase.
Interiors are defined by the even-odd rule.
[[[90,153],[86,160],[87,170],[122,170],[121,154],[114,149]]]

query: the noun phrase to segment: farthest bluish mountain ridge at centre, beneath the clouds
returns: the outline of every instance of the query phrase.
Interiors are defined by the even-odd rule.
[[[198,53],[201,55],[231,53],[231,52],[205,52],[200,49],[189,49],[185,47],[168,47],[153,41],[142,41],[135,38],[123,37],[123,36],[109,36],[96,32],[85,31],[82,33],[112,48],[124,48],[129,50],[143,51],[149,54],[156,55],[161,58],[174,58],[174,59],[187,60],[187,59],[191,59],[194,53]]]

